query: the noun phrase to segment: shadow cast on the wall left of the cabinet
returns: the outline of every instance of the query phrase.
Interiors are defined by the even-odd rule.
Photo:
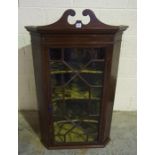
[[[31,45],[18,50],[18,90],[19,110],[37,110]]]

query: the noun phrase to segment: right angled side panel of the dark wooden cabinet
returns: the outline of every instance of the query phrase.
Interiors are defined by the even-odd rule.
[[[117,81],[117,73],[118,73],[118,64],[119,64],[119,56],[120,56],[120,47],[121,47],[121,38],[122,33],[119,33],[115,36],[115,44],[113,49],[110,50],[113,52],[110,56],[111,59],[111,71],[110,71],[110,80],[109,80],[109,89],[107,89],[107,113],[106,113],[106,125],[105,125],[105,133],[104,137],[108,138],[110,136],[111,129],[111,120],[112,120],[112,112],[115,98],[115,89],[116,89],[116,81]],[[109,66],[109,67],[110,67]]]

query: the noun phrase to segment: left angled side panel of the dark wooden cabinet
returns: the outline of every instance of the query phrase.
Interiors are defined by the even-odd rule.
[[[41,37],[37,34],[31,34],[33,65],[35,72],[35,83],[37,91],[39,122],[41,130],[41,141],[49,145],[49,116],[47,106],[46,74],[44,69],[45,59],[43,56],[43,47],[41,46]]]

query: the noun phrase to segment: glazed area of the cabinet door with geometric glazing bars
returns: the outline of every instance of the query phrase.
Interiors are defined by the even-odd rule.
[[[105,48],[50,48],[49,68],[52,143],[97,144]]]

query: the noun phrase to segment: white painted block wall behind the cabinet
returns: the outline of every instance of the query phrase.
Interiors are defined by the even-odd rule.
[[[24,26],[53,23],[68,8],[76,10],[77,18],[89,8],[104,23],[129,26],[122,40],[114,109],[136,110],[136,0],[19,0],[19,108],[37,109],[30,36]]]

